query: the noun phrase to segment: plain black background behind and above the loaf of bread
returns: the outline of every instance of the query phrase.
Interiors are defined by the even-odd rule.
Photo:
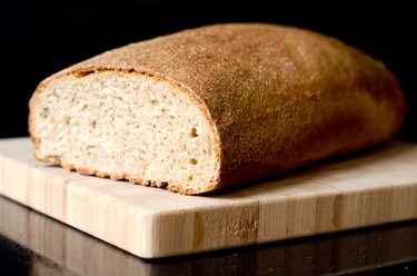
[[[27,136],[28,101],[37,85],[78,61],[186,28],[270,22],[339,38],[387,63],[408,101],[407,120],[397,137],[417,141],[413,11],[411,2],[398,1],[306,6],[298,1],[2,0],[0,138]]]

